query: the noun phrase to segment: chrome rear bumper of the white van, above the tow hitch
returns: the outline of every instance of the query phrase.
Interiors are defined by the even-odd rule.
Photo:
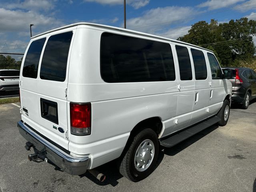
[[[81,175],[86,172],[89,163],[88,156],[81,158],[70,156],[36,134],[22,121],[19,121],[17,126],[20,134],[32,144],[35,153],[44,150],[46,158],[68,174]]]

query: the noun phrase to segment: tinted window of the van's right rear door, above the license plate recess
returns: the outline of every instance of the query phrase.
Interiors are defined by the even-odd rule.
[[[66,32],[50,36],[42,58],[41,79],[65,81],[72,35],[72,32]]]

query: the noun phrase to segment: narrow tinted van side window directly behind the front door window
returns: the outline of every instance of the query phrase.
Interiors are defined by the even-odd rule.
[[[191,49],[191,54],[194,62],[196,80],[207,79],[207,67],[204,53],[200,50]]]

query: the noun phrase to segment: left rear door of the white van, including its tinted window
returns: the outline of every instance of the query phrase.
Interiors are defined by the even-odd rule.
[[[22,120],[40,132],[38,104],[37,104],[37,78],[38,66],[46,38],[39,38],[30,42],[25,52],[20,69],[20,106]]]

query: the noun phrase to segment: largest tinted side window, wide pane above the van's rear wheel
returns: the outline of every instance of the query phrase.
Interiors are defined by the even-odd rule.
[[[175,80],[170,44],[103,33],[101,75],[105,82]]]

